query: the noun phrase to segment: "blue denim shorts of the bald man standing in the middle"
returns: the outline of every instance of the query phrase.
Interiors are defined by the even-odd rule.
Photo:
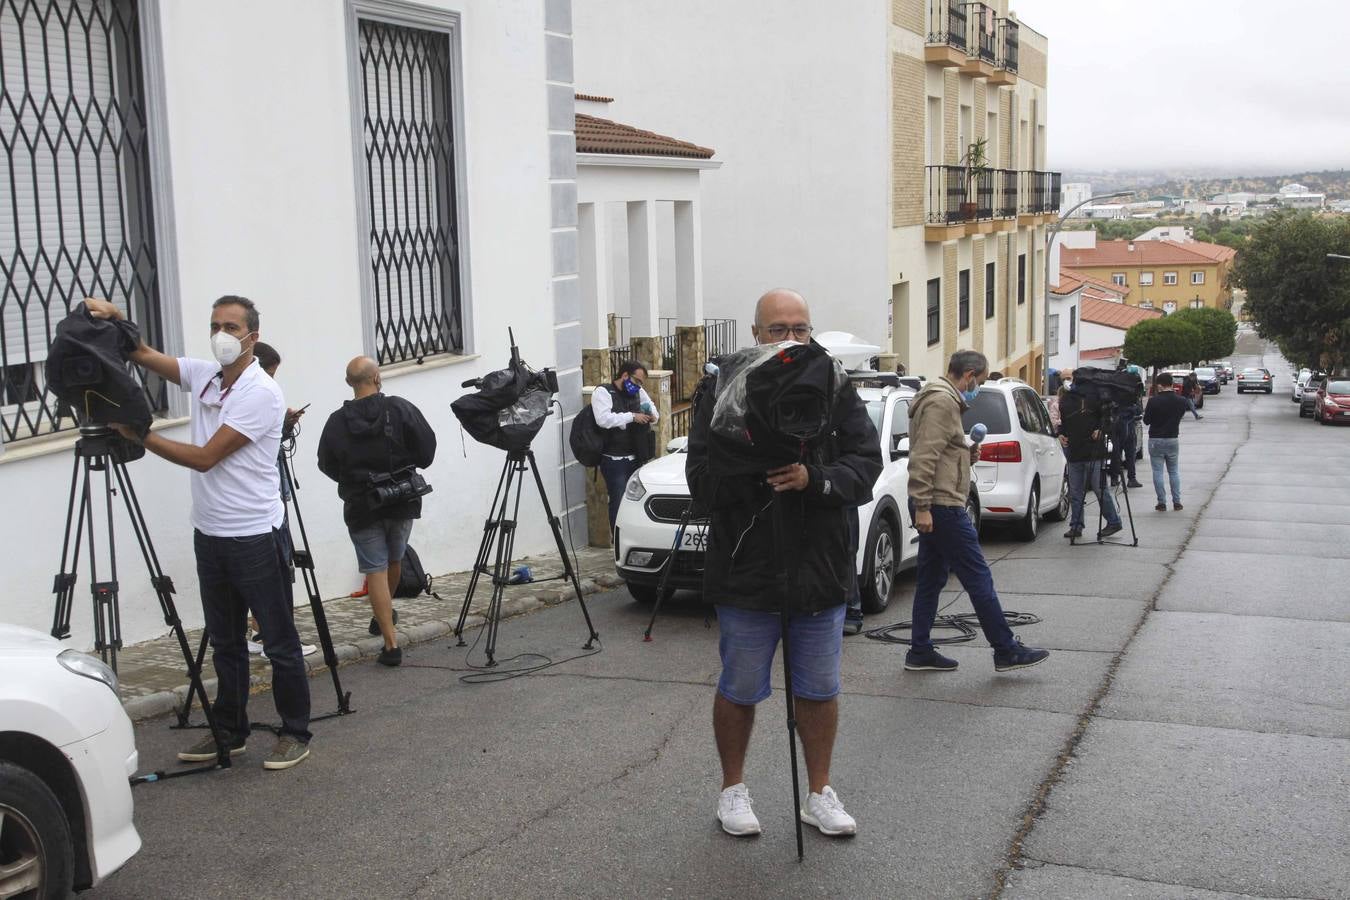
[[[844,603],[787,623],[792,694],[805,700],[830,700],[840,692],[844,653]],[[717,692],[738,706],[755,706],[771,694],[774,652],[783,629],[778,613],[717,607],[722,676]]]

